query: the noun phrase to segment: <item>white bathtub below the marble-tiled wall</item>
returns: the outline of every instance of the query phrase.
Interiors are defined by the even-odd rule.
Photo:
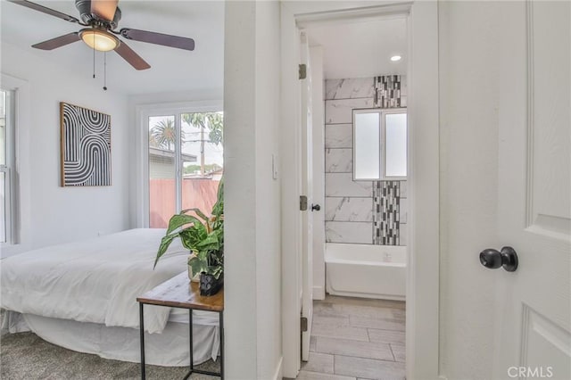
[[[327,293],[404,301],[406,262],[405,246],[327,243]]]

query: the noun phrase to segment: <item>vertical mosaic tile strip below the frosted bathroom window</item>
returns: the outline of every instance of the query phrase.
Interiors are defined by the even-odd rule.
[[[401,182],[373,183],[373,244],[400,245]]]

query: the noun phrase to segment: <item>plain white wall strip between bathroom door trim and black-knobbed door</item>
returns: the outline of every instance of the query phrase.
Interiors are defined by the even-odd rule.
[[[478,253],[496,241],[498,36],[493,2],[439,5],[441,373],[492,378],[494,278]]]

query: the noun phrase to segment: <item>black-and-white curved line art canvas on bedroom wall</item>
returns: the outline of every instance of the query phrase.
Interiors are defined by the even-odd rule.
[[[111,116],[60,103],[62,186],[111,186]]]

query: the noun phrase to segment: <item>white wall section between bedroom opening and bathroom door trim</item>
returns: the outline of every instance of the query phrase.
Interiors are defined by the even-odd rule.
[[[225,289],[229,379],[271,379],[281,363],[279,4],[227,2]]]

